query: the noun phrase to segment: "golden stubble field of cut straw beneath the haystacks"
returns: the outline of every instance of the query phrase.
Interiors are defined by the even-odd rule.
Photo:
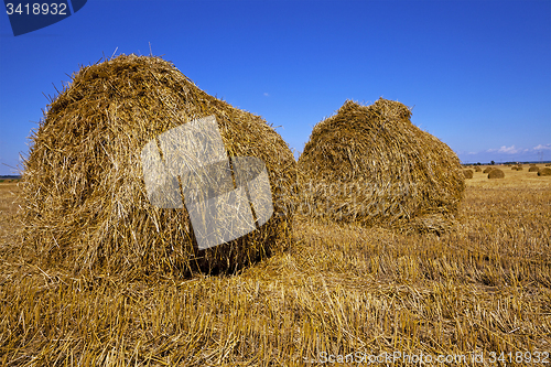
[[[19,255],[17,184],[1,183],[0,361],[355,365],[396,352],[397,366],[421,353],[456,358],[444,365],[543,360],[551,176],[528,166],[499,166],[497,180],[475,172],[454,231],[441,237],[298,218],[289,251],[237,276],[194,279],[85,279],[32,266]]]

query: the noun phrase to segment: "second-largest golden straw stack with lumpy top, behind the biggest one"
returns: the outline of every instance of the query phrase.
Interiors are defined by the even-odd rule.
[[[299,159],[303,214],[400,230],[446,229],[464,191],[457,155],[380,98],[346,101],[317,123]]]

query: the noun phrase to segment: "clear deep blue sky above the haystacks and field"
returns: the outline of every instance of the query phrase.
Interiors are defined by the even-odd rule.
[[[66,74],[150,44],[296,151],[346,99],[382,96],[463,162],[551,160],[551,1],[88,0],[20,36],[0,15],[0,174]]]

